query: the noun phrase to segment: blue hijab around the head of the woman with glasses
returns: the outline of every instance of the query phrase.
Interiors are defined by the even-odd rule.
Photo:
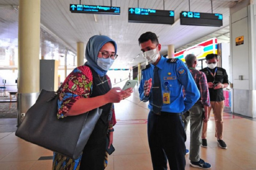
[[[85,58],[87,60],[86,64],[94,69],[94,71],[101,77],[107,74],[107,71],[103,70],[97,65],[98,53],[101,47],[108,43],[113,42],[115,46],[115,54],[117,51],[116,43],[113,39],[105,35],[95,35],[90,37],[85,50]]]

